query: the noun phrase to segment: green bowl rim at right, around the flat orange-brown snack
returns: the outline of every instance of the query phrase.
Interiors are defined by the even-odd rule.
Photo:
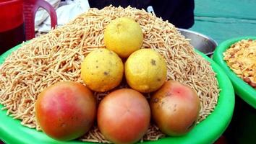
[[[216,48],[213,54],[213,60],[218,63],[219,66],[225,71],[226,75],[229,76],[231,82],[234,86],[235,93],[244,99],[247,104],[254,107],[256,109],[256,90],[249,86],[249,84],[245,83],[242,78],[239,78],[236,73],[234,73],[229,66],[227,66],[226,61],[223,60],[223,53],[235,42],[244,39],[252,39],[256,40],[256,37],[237,37],[230,40],[226,40],[221,42],[220,45]]]

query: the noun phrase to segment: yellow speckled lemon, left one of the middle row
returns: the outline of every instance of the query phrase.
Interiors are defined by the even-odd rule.
[[[82,61],[81,77],[93,91],[104,92],[118,86],[124,64],[116,53],[105,48],[90,52]]]

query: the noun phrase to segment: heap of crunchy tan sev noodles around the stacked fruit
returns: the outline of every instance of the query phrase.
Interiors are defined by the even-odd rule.
[[[168,79],[188,84],[200,97],[200,117],[197,123],[213,112],[218,101],[218,81],[210,63],[195,53],[189,40],[173,24],[163,22],[153,14],[135,8],[108,6],[90,9],[68,24],[40,35],[22,45],[0,66],[0,103],[22,125],[36,128],[34,104],[43,89],[59,81],[77,81],[80,63],[90,51],[105,48],[104,27],[117,17],[132,17],[142,27],[142,48],[153,48],[163,55],[168,67]],[[126,84],[119,86],[127,87]],[[119,89],[117,88],[117,89]],[[108,93],[95,93],[98,102]],[[149,96],[150,94],[148,94]],[[158,140],[165,135],[151,124],[143,140]],[[80,140],[109,143],[97,125]]]

